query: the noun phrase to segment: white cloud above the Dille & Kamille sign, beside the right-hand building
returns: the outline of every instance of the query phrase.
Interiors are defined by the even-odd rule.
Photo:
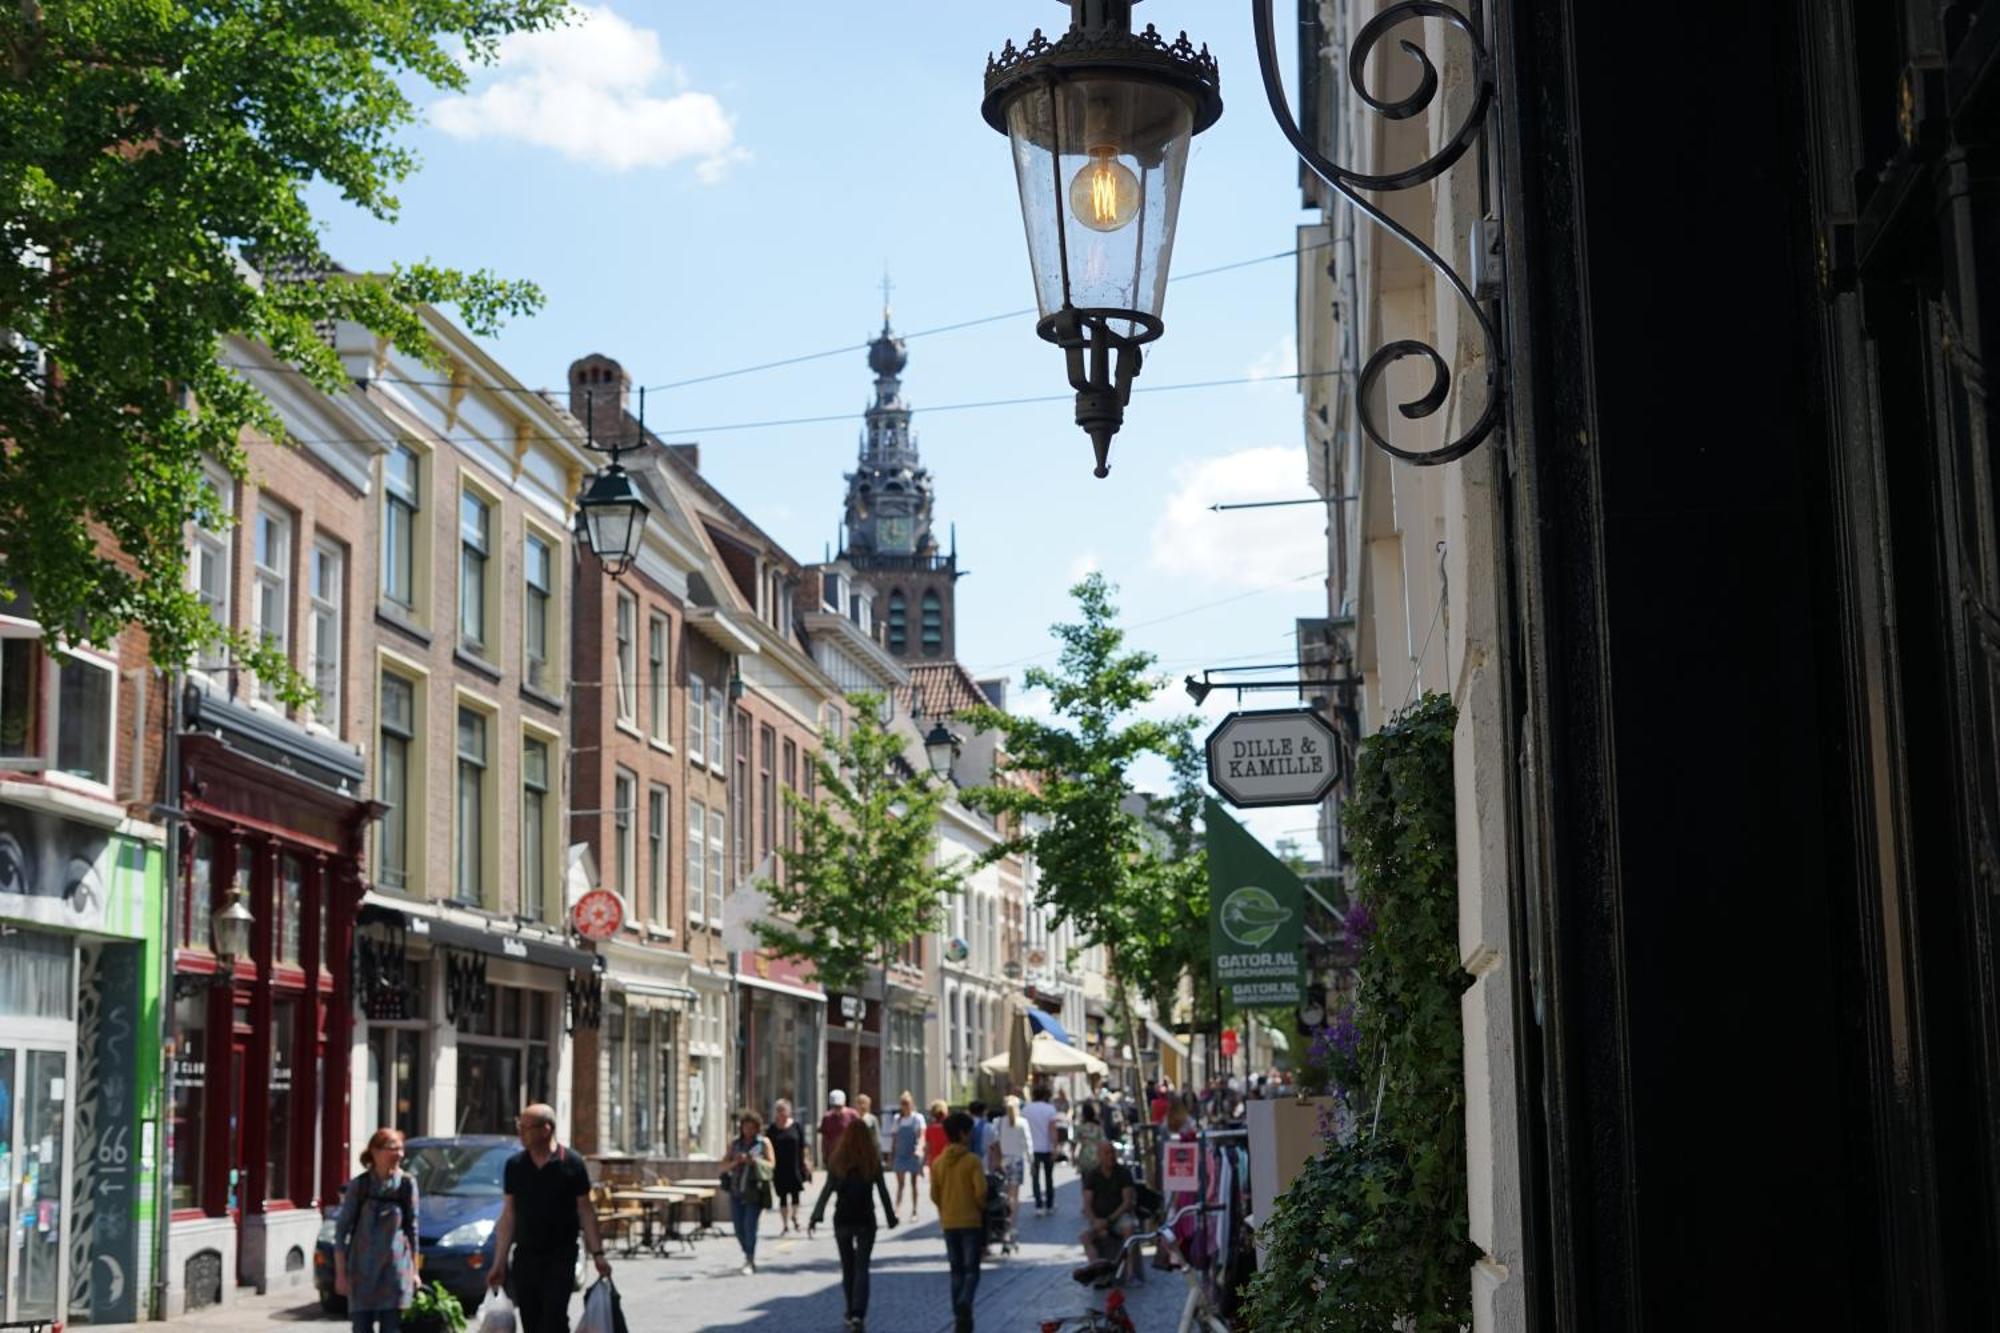
[[[1326,566],[1326,508],[1208,506],[1310,498],[1298,448],[1244,448],[1174,468],[1174,494],[1152,524],[1150,564],[1196,582],[1256,588]]]

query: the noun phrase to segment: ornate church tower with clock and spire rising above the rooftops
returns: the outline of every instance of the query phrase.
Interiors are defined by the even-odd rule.
[[[956,652],[958,550],[940,554],[932,530],[930,472],[916,452],[910,406],[902,400],[900,376],[910,354],[890,330],[886,296],[884,284],[882,332],[868,344],[876,392],[862,428],[860,462],[848,472],[840,556],[876,590],[876,618],[894,656],[950,660]]]

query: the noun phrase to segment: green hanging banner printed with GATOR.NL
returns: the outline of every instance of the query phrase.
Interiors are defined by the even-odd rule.
[[[1238,1009],[1296,1007],[1304,999],[1306,887],[1214,801],[1206,825],[1216,985]]]

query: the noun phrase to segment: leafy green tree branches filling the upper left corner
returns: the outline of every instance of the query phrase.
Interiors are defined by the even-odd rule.
[[[440,364],[420,306],[474,332],[540,294],[436,264],[336,272],[312,182],[394,218],[416,166],[410,90],[458,90],[566,0],[20,0],[0,6],[0,580],[42,624],[154,660],[230,646],[288,699],[274,652],[230,638],[188,588],[184,526],[228,522],[202,456],[242,476],[276,412],[224,364],[268,346],[346,384],[316,324],[356,320]]]

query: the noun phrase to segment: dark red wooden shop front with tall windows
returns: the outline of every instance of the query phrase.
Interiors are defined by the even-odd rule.
[[[174,877],[170,1309],[310,1293],[320,1209],[352,1175],[348,997],[362,839],[350,747],[190,689]],[[248,909],[230,957],[224,909]]]

